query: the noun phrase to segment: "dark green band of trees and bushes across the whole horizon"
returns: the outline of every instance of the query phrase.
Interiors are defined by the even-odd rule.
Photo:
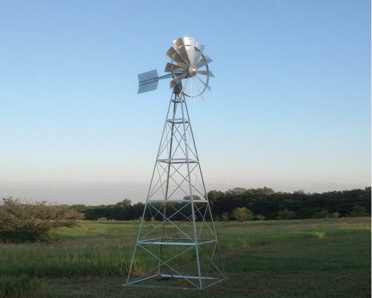
[[[194,197],[198,200],[199,197]],[[189,197],[184,197],[189,200]],[[371,216],[371,187],[327,193],[275,192],[272,188],[232,188],[226,192],[208,192],[213,219],[216,221],[246,221],[263,219],[309,219],[343,216]],[[161,203],[157,203],[161,209]],[[179,205],[182,203],[170,203]],[[47,202],[21,202],[13,197],[3,198],[0,205],[0,242],[58,241],[54,233],[58,226],[74,226],[77,219],[128,221],[140,219],[145,204],[132,205],[125,199],[114,205],[49,205]],[[180,209],[173,206],[175,209]],[[182,214],[190,216],[190,205],[182,205]],[[200,207],[204,214],[206,208]],[[182,220],[182,214],[172,219]],[[145,220],[161,221],[162,215],[147,214]],[[200,220],[200,219],[197,219]]]

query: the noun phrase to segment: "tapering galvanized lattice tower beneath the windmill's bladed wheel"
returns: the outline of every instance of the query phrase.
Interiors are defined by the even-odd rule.
[[[140,259],[147,260],[145,272],[135,270]],[[138,287],[203,289],[225,279],[190,117],[180,98],[168,108],[130,271],[126,285]]]

